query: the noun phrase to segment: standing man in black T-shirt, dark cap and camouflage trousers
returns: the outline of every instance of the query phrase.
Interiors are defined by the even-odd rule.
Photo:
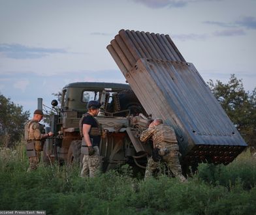
[[[95,177],[95,173],[101,169],[101,156],[99,143],[101,142],[101,129],[95,116],[99,113],[100,102],[91,100],[88,102],[88,112],[80,120],[80,134],[82,136],[81,153],[82,160],[81,177]]]

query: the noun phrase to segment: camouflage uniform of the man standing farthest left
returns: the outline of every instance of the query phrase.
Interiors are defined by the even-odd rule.
[[[35,156],[29,157],[29,167],[27,172],[37,169],[40,162],[40,152],[42,151],[42,145],[44,144],[43,126],[37,121],[29,120],[25,124],[25,140],[27,143],[34,143]]]

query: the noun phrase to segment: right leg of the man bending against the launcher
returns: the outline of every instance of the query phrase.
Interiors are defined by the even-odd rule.
[[[170,151],[166,156],[164,156],[164,160],[167,162],[168,168],[176,178],[181,182],[187,181],[184,175],[182,175],[182,167],[180,165],[178,151]]]

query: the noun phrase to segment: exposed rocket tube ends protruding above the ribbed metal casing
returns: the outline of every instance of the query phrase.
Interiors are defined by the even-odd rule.
[[[185,62],[168,35],[121,30],[107,49],[123,74],[131,70],[140,58]]]

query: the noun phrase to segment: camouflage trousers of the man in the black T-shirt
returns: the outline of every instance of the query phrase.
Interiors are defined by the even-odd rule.
[[[95,177],[97,173],[101,170],[101,156],[98,154],[87,155],[84,154],[82,160],[82,171],[80,173],[81,177]]]

